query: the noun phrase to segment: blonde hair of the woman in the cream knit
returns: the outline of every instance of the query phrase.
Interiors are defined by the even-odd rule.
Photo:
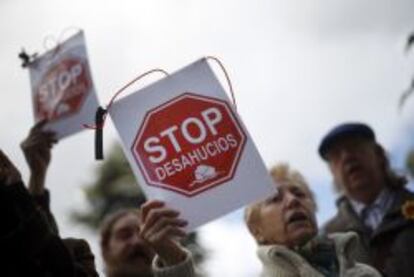
[[[291,169],[287,163],[279,163],[271,167],[270,175],[277,183],[289,182],[298,185],[311,199],[315,211],[317,210],[315,196],[310,190],[305,178],[299,171]],[[263,200],[257,201],[247,206],[244,210],[244,221],[253,236],[255,236],[253,226],[255,226],[260,220],[260,208],[262,204]],[[258,241],[258,243],[260,244],[262,242]]]

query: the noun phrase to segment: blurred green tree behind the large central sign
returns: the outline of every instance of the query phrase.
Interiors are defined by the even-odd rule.
[[[95,182],[84,188],[89,209],[73,211],[75,222],[97,230],[110,213],[122,208],[138,208],[145,202],[145,195],[137,185],[120,145],[111,147],[105,160],[97,167],[96,176]],[[206,250],[198,243],[196,232],[190,233],[182,243],[192,252],[196,263],[200,264],[205,259]]]

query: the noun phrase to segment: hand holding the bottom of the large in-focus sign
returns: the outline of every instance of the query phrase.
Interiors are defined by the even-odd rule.
[[[182,228],[188,223],[179,215],[178,211],[157,200],[141,206],[140,235],[167,266],[178,264],[187,256],[177,239],[187,235]]]

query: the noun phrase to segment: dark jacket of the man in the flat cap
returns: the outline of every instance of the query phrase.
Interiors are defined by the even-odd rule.
[[[414,194],[405,188],[394,189],[394,202],[376,230],[371,232],[351,207],[349,200],[338,200],[338,213],[323,227],[325,233],[356,232],[361,248],[356,259],[388,277],[414,276],[414,215],[403,213],[407,203],[414,205]]]

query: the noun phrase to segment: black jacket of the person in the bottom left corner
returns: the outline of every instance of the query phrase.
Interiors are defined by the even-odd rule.
[[[0,184],[0,275],[97,276],[86,242],[61,239],[47,217],[22,183]]]

